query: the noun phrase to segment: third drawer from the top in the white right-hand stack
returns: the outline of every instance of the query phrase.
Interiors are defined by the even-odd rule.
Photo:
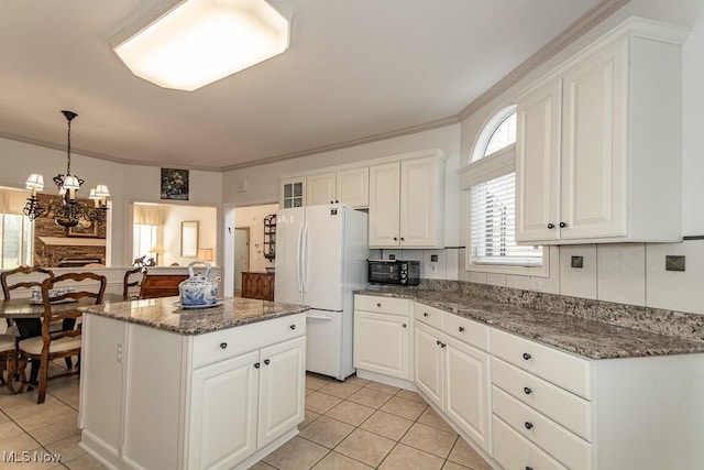
[[[497,386],[492,387],[494,414],[521,436],[573,470],[592,468],[592,446],[551,419],[520,403]]]

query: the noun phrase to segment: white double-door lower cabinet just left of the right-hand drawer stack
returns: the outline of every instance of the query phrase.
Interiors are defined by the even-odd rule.
[[[491,453],[490,356],[422,320],[435,321],[441,315],[449,314],[416,303],[416,386],[463,434]]]

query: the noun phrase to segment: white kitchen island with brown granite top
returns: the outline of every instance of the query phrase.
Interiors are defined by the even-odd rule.
[[[80,447],[116,469],[248,468],[304,419],[308,307],[81,308]]]

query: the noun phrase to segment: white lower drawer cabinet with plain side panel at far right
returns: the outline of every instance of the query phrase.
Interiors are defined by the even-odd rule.
[[[495,328],[491,345],[502,467],[702,468],[704,354],[588,360]]]

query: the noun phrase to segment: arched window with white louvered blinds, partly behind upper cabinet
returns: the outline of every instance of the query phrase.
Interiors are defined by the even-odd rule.
[[[494,114],[484,125],[462,172],[468,193],[466,269],[536,273],[542,247],[516,243],[516,107]],[[532,269],[532,270],[530,270]],[[530,271],[534,271],[532,273]]]

